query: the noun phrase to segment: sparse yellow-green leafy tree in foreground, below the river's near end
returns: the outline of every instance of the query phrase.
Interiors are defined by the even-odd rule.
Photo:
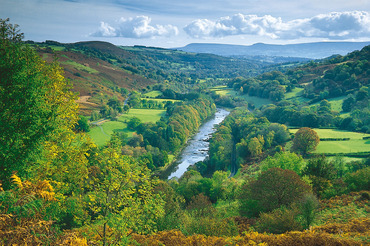
[[[156,181],[145,165],[120,153],[120,140],[114,135],[105,149],[93,155],[86,180],[86,205],[93,224],[102,226],[103,245],[118,244],[130,229],[155,231],[155,222],[163,214],[163,200],[154,194]]]

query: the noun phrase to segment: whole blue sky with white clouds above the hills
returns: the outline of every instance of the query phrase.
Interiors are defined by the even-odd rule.
[[[181,47],[370,41],[370,0],[0,0],[26,40]]]

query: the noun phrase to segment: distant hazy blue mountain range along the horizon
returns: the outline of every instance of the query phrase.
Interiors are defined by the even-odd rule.
[[[242,58],[269,56],[322,59],[332,55],[346,55],[354,50],[360,50],[367,45],[370,45],[370,41],[317,42],[286,45],[257,43],[250,46],[192,43],[185,47],[177,48],[177,50],[195,53],[210,53],[221,56],[240,56]]]

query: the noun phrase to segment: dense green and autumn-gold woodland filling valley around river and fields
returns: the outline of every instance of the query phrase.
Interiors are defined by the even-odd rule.
[[[63,52],[76,56],[116,66],[131,62],[124,69],[146,81],[141,88],[117,82],[110,90],[107,81],[89,84],[100,88],[96,95],[109,96],[97,96],[89,102],[94,110],[81,111],[76,91],[84,80],[66,79],[68,66],[63,70],[63,63],[44,55],[61,45],[35,48],[22,39],[17,25],[0,20],[0,244],[370,243],[369,151],[351,161],[317,154],[321,142],[349,138],[325,139],[312,129],[369,133],[369,47],[252,77],[258,73],[217,56],[195,62],[195,54],[157,48],[63,45]],[[108,56],[117,49],[121,53]],[[143,50],[152,54],[148,60],[181,60],[199,74],[184,72],[190,78],[184,87],[176,68],[152,67],[142,60]],[[86,79],[88,72],[80,76]],[[240,97],[210,92],[217,77],[229,77]],[[286,98],[297,88],[301,95]],[[142,89],[156,89],[155,99],[168,101],[145,98]],[[271,104],[253,107],[242,96],[269,98]],[[338,96],[344,97],[342,110],[335,111],[329,100]],[[170,156],[181,153],[216,104],[231,113],[210,138],[209,157],[179,179],[160,179],[173,165]],[[122,122],[131,135],[114,132],[102,146],[86,133],[94,127],[87,118],[119,123],[133,109],[161,109],[164,116],[156,122],[131,117]]]

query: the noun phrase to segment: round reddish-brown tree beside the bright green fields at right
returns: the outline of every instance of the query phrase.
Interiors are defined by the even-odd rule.
[[[315,150],[319,142],[319,135],[314,130],[302,127],[294,134],[292,149],[306,155],[308,152]]]

